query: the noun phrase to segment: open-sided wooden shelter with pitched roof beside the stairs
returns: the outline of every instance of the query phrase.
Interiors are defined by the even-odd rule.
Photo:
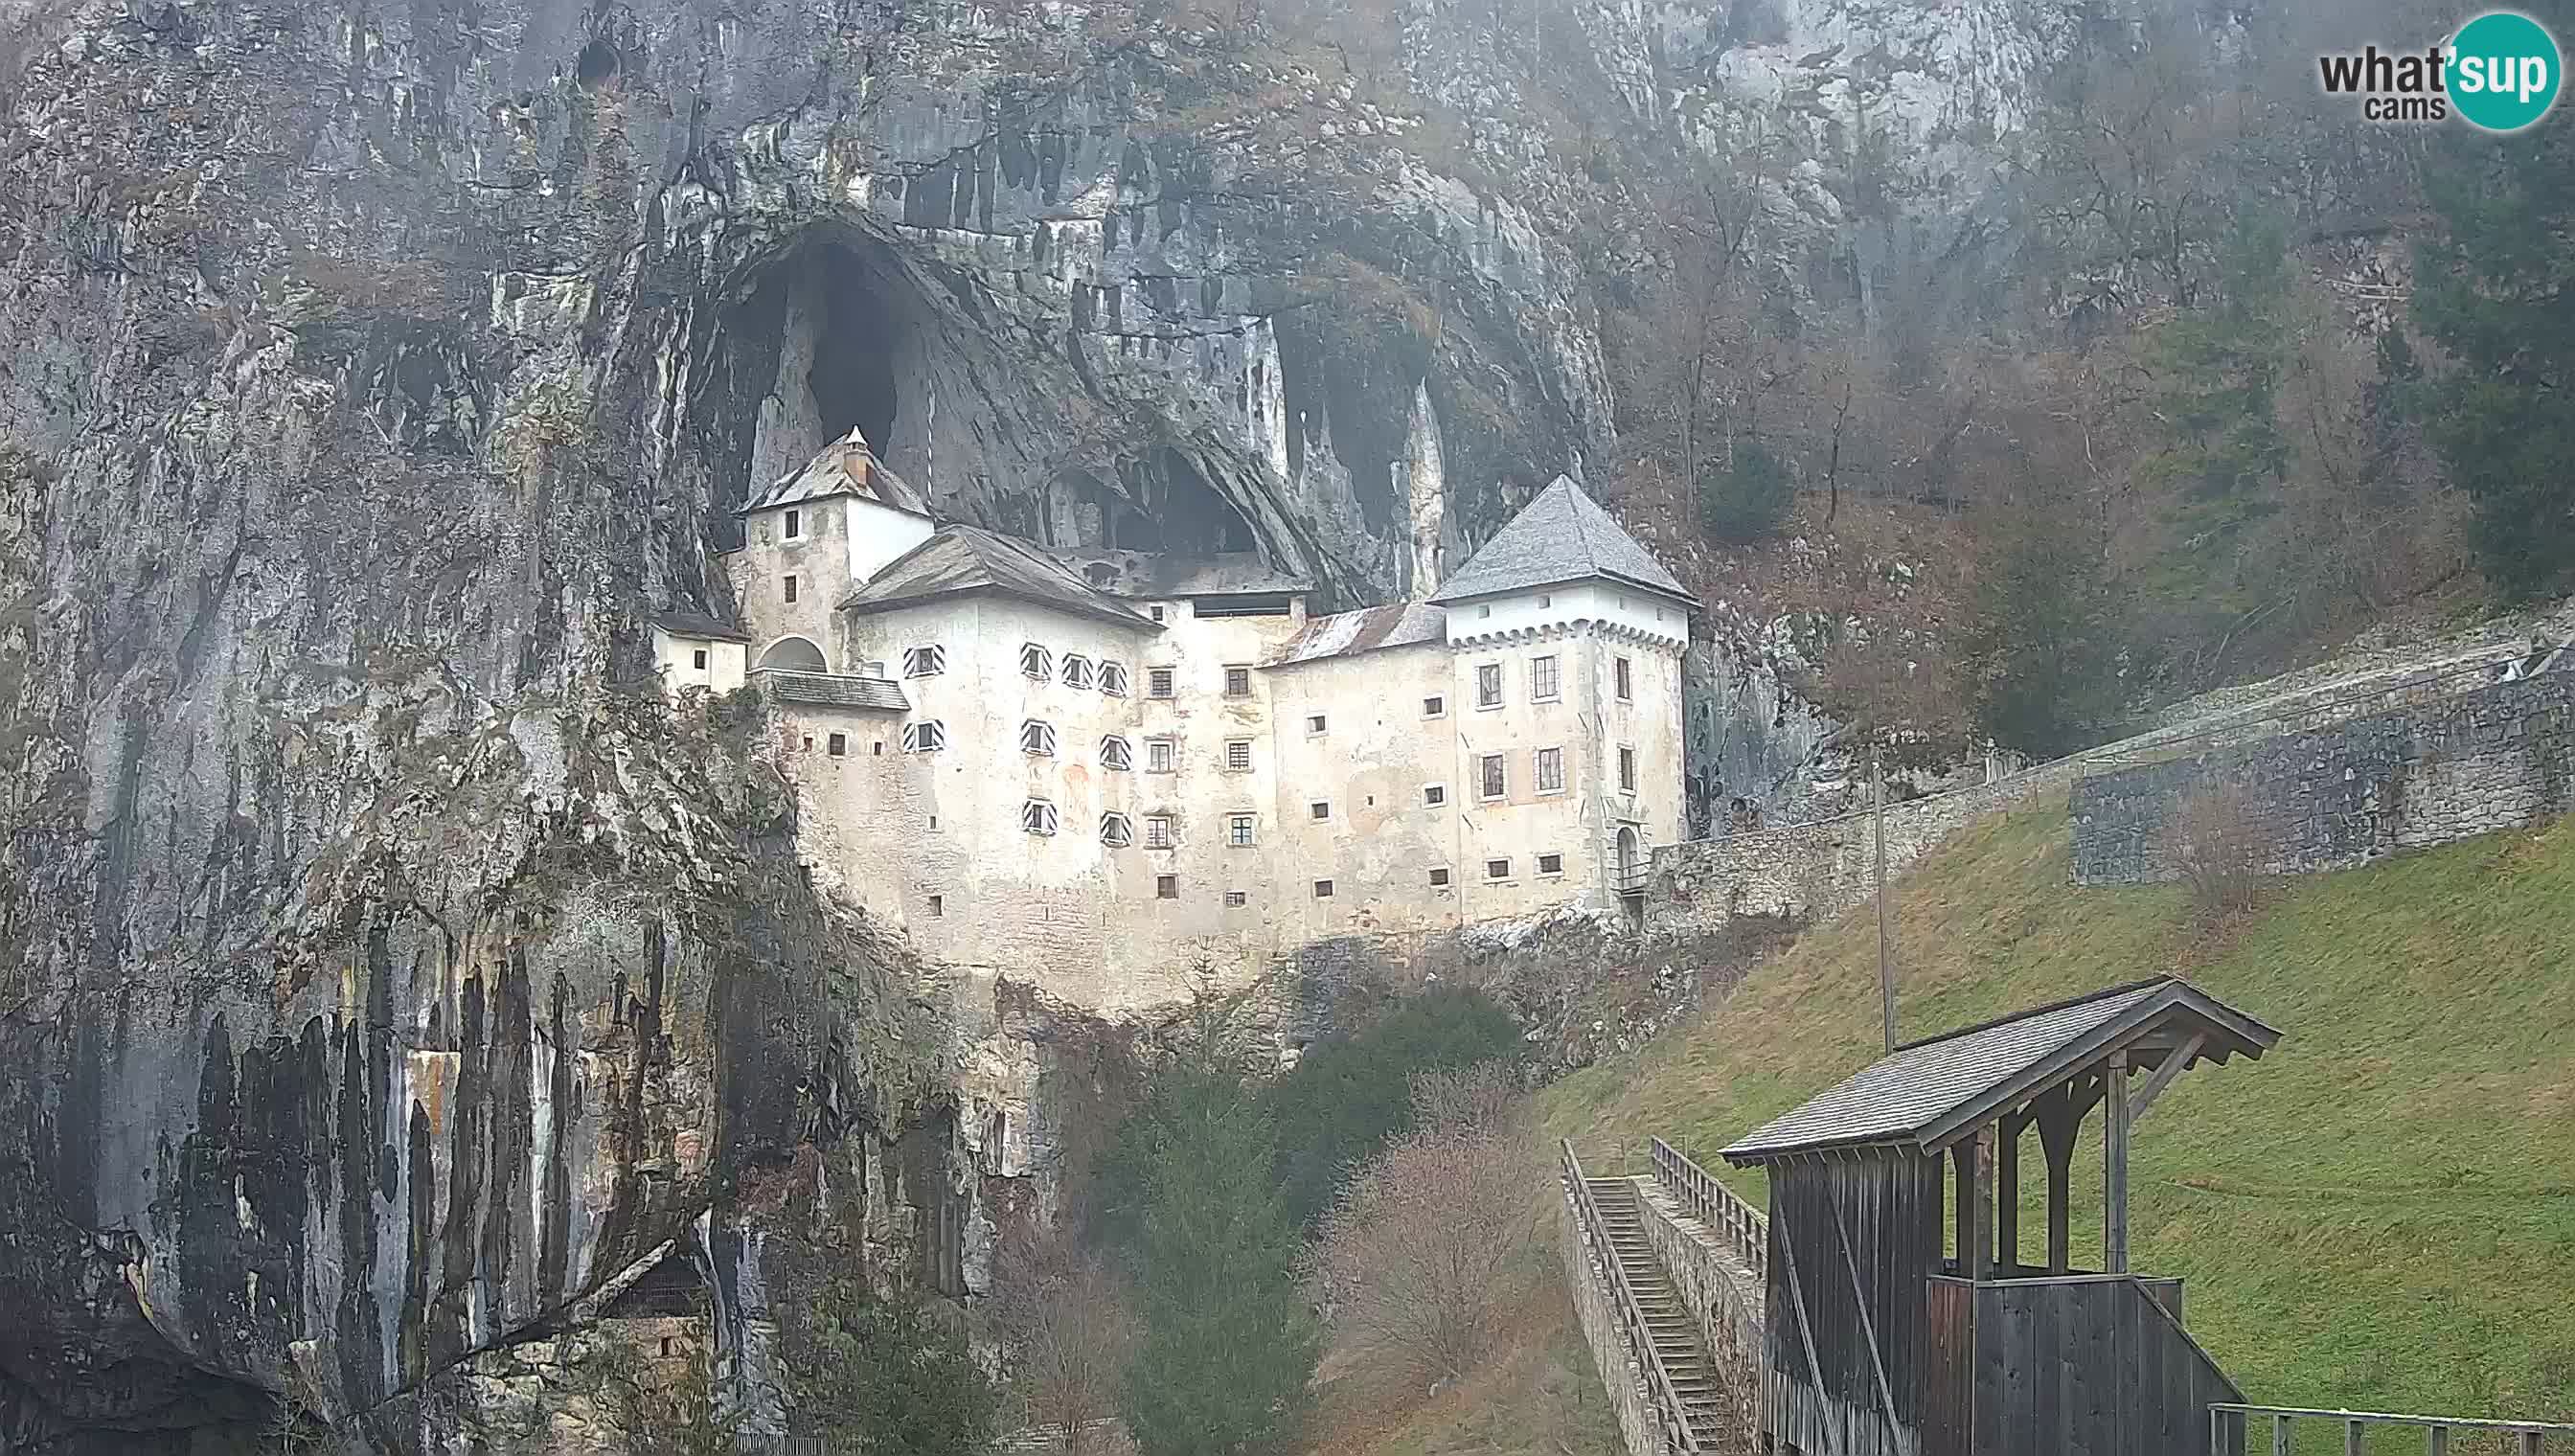
[[[1761,1435],[1803,1456],[2202,1451],[2243,1392],[2127,1268],[2127,1142],[2199,1062],[2279,1033],[2181,982],[2042,1005],[1895,1049],[1725,1149],[1769,1173]],[[2104,1108],[2104,1250],[2068,1247],[2075,1131]],[[2019,1258],[2037,1129],[2047,1252]],[[1944,1206],[1947,1203],[1947,1206]]]

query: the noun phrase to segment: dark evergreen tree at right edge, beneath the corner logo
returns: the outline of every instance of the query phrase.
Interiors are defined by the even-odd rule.
[[[2536,5],[2575,36],[2575,3]],[[2457,366],[2423,392],[2423,436],[2469,495],[2469,546],[2508,598],[2575,580],[2575,129],[2454,129],[2426,168],[2444,235],[2415,260],[2415,327]]]

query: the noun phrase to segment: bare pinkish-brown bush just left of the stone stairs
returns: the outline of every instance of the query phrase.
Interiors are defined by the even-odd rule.
[[[1499,1064],[1414,1082],[1419,1121],[1324,1219],[1316,1286],[1354,1345],[1460,1376],[1532,1276],[1532,1154]]]

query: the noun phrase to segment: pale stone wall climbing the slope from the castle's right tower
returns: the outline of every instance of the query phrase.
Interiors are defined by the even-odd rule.
[[[2078,768],[2042,763],[1975,789],[1887,804],[1887,876],[1985,814],[2063,794]],[[1684,933],[1743,915],[1821,920],[1867,899],[1872,866],[1867,812],[1663,845],[1645,881],[1645,928]]]

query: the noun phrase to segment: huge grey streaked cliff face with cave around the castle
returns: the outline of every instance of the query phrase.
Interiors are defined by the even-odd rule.
[[[834,1201],[963,1281],[937,997],[644,680],[744,490],[860,425],[958,518],[1421,590],[1615,469],[1620,214],[1751,75],[1857,258],[1826,52],[1916,36],[1851,85],[1936,180],[2047,44],[1390,15],[0,5],[0,1451],[453,1448],[664,1247],[754,1348]],[[1710,781],[1821,737],[1774,688]]]

